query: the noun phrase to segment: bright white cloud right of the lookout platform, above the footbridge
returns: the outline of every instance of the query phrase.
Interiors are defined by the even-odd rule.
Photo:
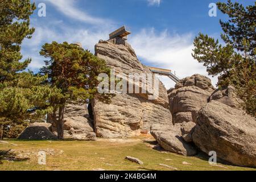
[[[168,31],[155,32],[154,28],[143,29],[132,35],[129,42],[144,63],[155,67],[171,69],[180,78],[192,76],[195,73],[208,76],[206,68],[191,56],[193,35],[170,35]],[[162,77],[162,76],[161,76]],[[216,85],[217,78],[212,78]],[[162,77],[166,88],[174,87],[175,83],[168,77]]]

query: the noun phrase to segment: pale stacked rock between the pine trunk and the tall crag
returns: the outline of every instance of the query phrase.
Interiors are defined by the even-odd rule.
[[[52,123],[51,131],[56,134],[56,123]],[[64,112],[64,138],[79,140],[94,140],[92,121],[89,119],[85,104],[69,103]]]

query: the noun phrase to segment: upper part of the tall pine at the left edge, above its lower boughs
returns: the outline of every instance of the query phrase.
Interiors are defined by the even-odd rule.
[[[17,72],[27,68],[31,59],[20,62],[20,45],[31,38],[35,28],[30,28],[29,16],[35,10],[30,0],[0,1],[0,83],[12,80]]]

